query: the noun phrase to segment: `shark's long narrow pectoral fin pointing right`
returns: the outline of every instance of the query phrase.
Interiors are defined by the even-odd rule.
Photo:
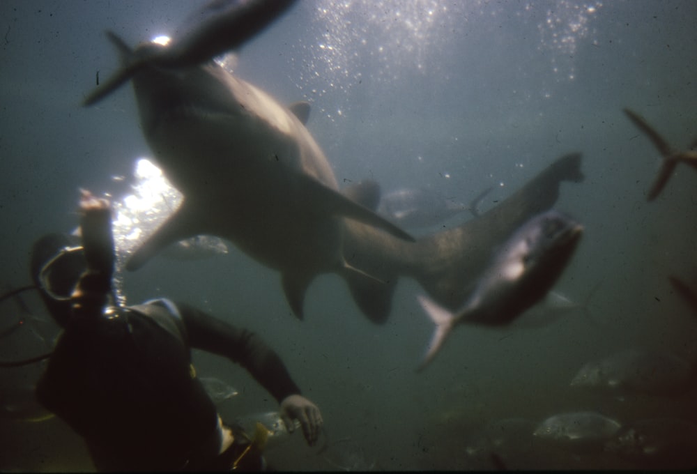
[[[389,234],[392,234],[392,236],[401,238],[402,240],[415,242],[415,238],[402,229],[399,229],[399,227],[392,224],[392,222],[377,215],[370,209],[361,206],[355,201],[351,201],[351,199],[340,192],[328,188],[312,176],[302,174],[299,175],[298,178],[301,181],[301,186],[310,194],[310,198],[316,200],[320,207],[321,204],[323,204],[325,212],[342,215],[348,219],[358,220],[364,224],[383,229],[383,231],[387,231]]]

